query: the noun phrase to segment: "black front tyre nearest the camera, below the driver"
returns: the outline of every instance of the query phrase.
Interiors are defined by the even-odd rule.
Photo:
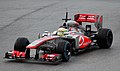
[[[64,62],[68,62],[71,57],[71,46],[68,41],[59,40],[58,46],[56,47],[56,52],[62,54],[62,59]]]

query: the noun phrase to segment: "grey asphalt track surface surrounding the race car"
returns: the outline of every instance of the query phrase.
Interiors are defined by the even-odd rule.
[[[7,62],[4,53],[12,50],[18,37],[37,39],[38,33],[56,30],[65,8],[75,13],[104,16],[104,27],[114,34],[111,49],[92,50],[72,56],[59,65]],[[120,0],[0,0],[0,71],[120,71]]]

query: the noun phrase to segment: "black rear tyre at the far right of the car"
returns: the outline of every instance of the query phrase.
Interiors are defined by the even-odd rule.
[[[113,42],[113,33],[110,29],[102,28],[98,31],[97,43],[102,49],[110,48]]]

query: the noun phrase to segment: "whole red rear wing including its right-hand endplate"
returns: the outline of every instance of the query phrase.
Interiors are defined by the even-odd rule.
[[[82,25],[82,22],[94,23],[95,27],[97,29],[100,29],[102,28],[103,16],[97,15],[97,14],[76,14],[74,15],[74,20],[81,25]]]

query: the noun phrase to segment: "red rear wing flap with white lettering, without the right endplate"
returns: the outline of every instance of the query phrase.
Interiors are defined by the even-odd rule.
[[[76,14],[74,15],[74,20],[78,23],[80,22],[91,22],[96,23],[98,21],[99,15],[95,14]]]

